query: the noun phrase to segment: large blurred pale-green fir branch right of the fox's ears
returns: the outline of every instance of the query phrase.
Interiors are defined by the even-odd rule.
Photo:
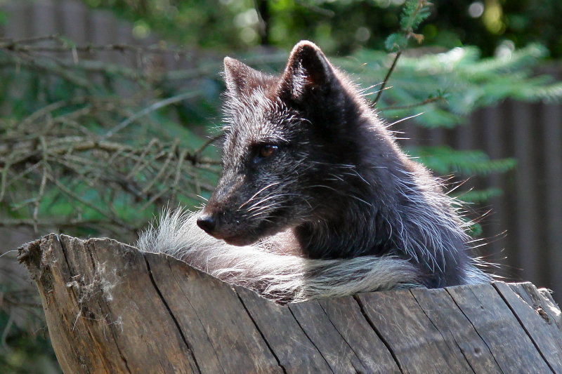
[[[414,119],[421,126],[454,128],[465,123],[466,116],[476,109],[508,98],[544,102],[562,98],[561,82],[533,72],[546,55],[545,49],[536,44],[497,58],[481,58],[476,47],[414,53],[403,54],[398,60],[389,81],[392,88],[384,92],[377,105],[386,118],[423,112]],[[357,61],[366,63],[358,66]],[[368,86],[384,79],[389,58],[386,53],[362,50],[353,59],[342,58],[337,63]]]

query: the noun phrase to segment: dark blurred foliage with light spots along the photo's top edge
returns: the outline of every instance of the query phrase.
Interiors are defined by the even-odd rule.
[[[326,53],[340,55],[358,48],[384,49],[389,34],[405,29],[401,6],[409,4],[404,0],[83,1],[134,22],[139,38],[152,31],[168,42],[228,51],[259,44],[288,49],[306,38]],[[475,3],[480,3],[481,13],[471,11]],[[483,55],[491,56],[505,41],[516,48],[538,41],[552,57],[562,55],[556,27],[561,1],[434,1],[430,8],[432,14],[419,32],[427,46],[478,46]]]

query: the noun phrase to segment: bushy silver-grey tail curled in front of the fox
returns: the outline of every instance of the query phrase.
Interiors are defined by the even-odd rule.
[[[143,232],[141,251],[166,253],[218,279],[255,290],[277,302],[336,298],[373,290],[419,286],[419,271],[394,256],[311,260],[273,253],[267,241],[230,246],[196,225],[197,213],[164,211]]]

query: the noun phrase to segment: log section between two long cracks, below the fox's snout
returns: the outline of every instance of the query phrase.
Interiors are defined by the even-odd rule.
[[[168,256],[145,253],[145,257],[155,286],[186,340],[190,340],[202,372],[282,373],[275,356],[227,283],[185,267]],[[174,288],[179,287],[179,292],[170,292],[170,283],[174,283]],[[203,347],[198,347],[200,342]],[[236,359],[230,355],[231,351],[237,352]],[[220,368],[207,367],[210,355],[216,356]]]

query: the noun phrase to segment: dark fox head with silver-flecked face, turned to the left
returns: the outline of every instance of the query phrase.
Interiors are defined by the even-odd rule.
[[[355,88],[310,41],[294,46],[271,76],[224,59],[223,175],[197,225],[247,245],[338,215],[344,195],[364,182],[354,167],[363,145]],[[367,111],[372,113],[371,111]]]

